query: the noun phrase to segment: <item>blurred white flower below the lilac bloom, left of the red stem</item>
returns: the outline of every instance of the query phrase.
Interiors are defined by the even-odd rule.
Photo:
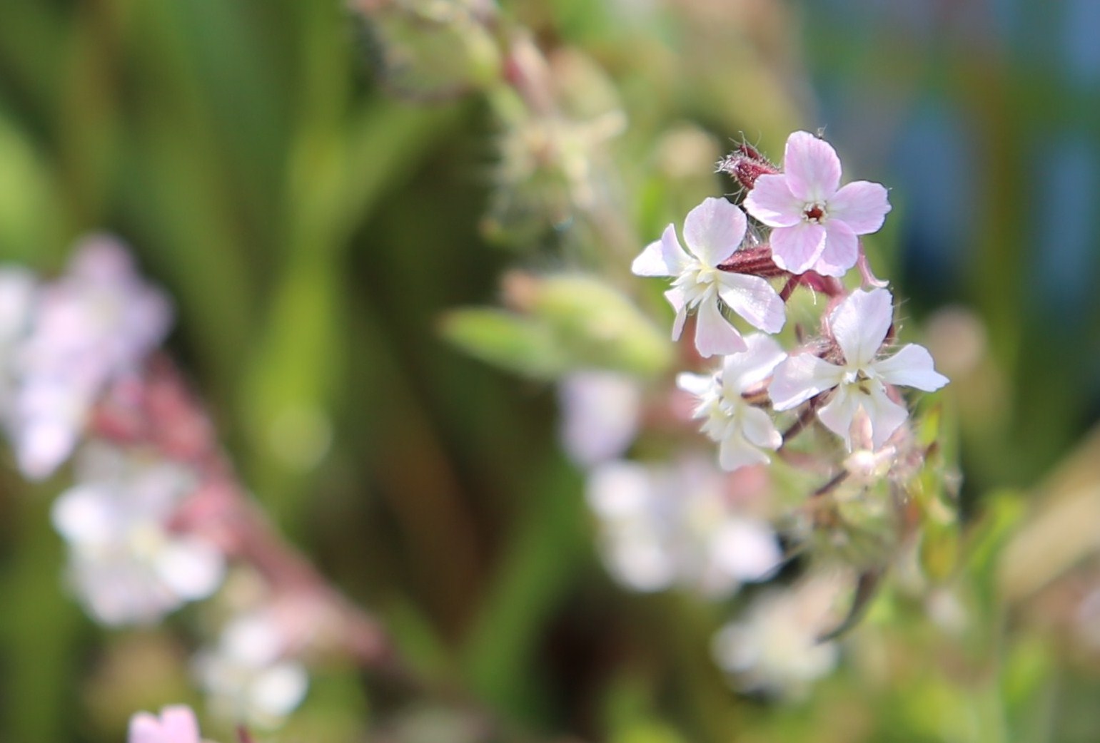
[[[155,622],[218,588],[222,554],[169,528],[194,481],[187,470],[106,444],[86,447],[78,469],[77,485],[54,502],[51,515],[69,545],[72,583],[95,619]]]

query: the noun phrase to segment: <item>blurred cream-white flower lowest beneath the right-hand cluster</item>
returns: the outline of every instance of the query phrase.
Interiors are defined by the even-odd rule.
[[[839,575],[812,576],[761,595],[715,635],[715,661],[743,691],[803,696],[836,665],[836,643],[818,639],[839,621],[845,585]]]

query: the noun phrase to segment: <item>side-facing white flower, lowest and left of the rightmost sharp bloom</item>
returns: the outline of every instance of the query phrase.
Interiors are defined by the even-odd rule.
[[[730,472],[769,462],[763,450],[777,450],[783,443],[768,413],[746,402],[743,395],[761,385],[785,354],[767,335],[755,333],[745,342],[748,348],[726,356],[717,374],[676,377],[680,389],[698,398],[692,417],[703,420],[703,433],[718,443],[718,463]]]

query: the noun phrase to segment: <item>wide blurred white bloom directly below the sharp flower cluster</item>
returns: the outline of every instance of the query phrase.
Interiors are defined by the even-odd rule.
[[[771,526],[729,497],[713,465],[612,462],[588,477],[608,572],[639,591],[686,586],[724,596],[769,577],[782,561]]]

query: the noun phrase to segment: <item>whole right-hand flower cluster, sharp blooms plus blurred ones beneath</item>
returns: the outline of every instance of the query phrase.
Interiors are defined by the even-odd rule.
[[[729,596],[784,563],[777,530],[787,551],[826,547],[814,563],[833,566],[759,594],[714,642],[738,688],[798,696],[838,655],[822,641],[845,622],[836,609],[851,579],[837,576],[880,569],[903,540],[890,503],[909,498],[924,450],[901,390],[933,391],[947,379],[924,347],[892,347],[893,296],[860,244],[890,211],[886,188],[842,186],[833,147],[806,132],[790,136],[782,167],[741,145],[718,169],[738,181],[741,203],[704,199],[681,234],[668,225],[631,265],[638,276],[671,279],[672,339],[691,329],[694,351],[716,363],[676,375],[679,391],[663,404],[629,378],[568,377],[564,442],[588,468],[607,569],[628,588]],[[853,268],[857,288],[842,281]],[[800,288],[814,304],[827,299],[816,335],[802,329],[805,303],[792,307]],[[716,462],[616,458],[641,434],[640,421],[669,419],[697,421]],[[815,422],[823,433],[796,441]],[[792,499],[792,485],[809,498]],[[883,488],[894,497],[882,498]]]

